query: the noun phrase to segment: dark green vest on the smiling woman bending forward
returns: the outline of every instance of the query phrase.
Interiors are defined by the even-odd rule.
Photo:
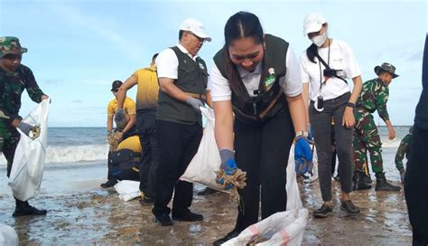
[[[279,85],[279,79],[285,75],[286,67],[286,54],[288,50],[288,43],[283,39],[275,37],[270,34],[265,34],[265,57],[263,60],[262,75],[258,87],[258,94],[256,97],[250,97],[247,89],[237,72],[236,65],[228,68],[225,64],[225,56],[228,55],[221,49],[214,56],[214,62],[219,68],[220,73],[228,79],[229,84],[231,78],[237,78],[237,85],[234,87],[230,84],[232,90],[232,107],[235,116],[241,120],[252,122],[263,122],[267,118],[272,118],[280,111],[286,109],[288,111],[288,104],[284,92]],[[269,71],[272,73],[274,69],[274,83],[272,86],[266,88],[265,81],[268,80]],[[235,73],[235,74],[234,74]],[[243,97],[237,97],[237,90],[242,91]]]

